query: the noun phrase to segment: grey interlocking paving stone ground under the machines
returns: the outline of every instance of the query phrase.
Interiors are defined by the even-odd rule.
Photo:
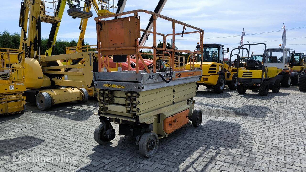
[[[195,100],[202,126],[186,125],[160,139],[149,159],[129,137],[117,135],[105,146],[94,141],[95,99],[48,111],[28,103],[24,114],[0,117],[0,171],[306,171],[306,93],[297,86],[266,97],[200,86]],[[13,155],[76,161],[17,163]]]

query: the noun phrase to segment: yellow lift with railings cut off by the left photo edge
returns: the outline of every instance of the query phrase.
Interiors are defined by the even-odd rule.
[[[17,59],[17,61],[12,60]],[[16,58],[17,57],[17,58]],[[24,51],[0,48],[0,115],[25,111]]]

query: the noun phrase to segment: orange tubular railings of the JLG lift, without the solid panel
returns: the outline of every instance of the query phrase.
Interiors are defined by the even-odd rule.
[[[152,15],[152,18],[153,18],[153,32],[149,31],[149,30],[140,29],[140,23],[137,23],[137,22],[140,21],[139,20],[139,16],[138,16],[138,13],[140,13],[140,12]],[[127,14],[134,14],[133,17],[135,18],[135,22],[136,22],[135,26],[139,27],[139,28],[135,27],[136,33],[138,33],[138,32],[140,33],[140,31],[142,31],[142,32],[147,32],[147,33],[153,34],[153,46],[152,47],[149,47],[149,46],[139,46],[139,42],[138,42],[138,38],[140,37],[139,36],[139,37],[135,38],[135,46],[133,46],[133,47],[124,47],[124,46],[122,46],[122,47],[115,47],[115,48],[103,48],[101,45],[102,45],[104,40],[101,39],[101,36],[100,36],[100,34],[101,34],[100,30],[102,29],[102,25],[101,25],[100,22],[103,22],[103,21],[105,22],[106,18],[123,16],[123,15],[127,15]],[[157,19],[157,17],[172,22],[172,33],[171,34],[165,35],[165,34],[157,33],[156,32],[156,19]],[[118,20],[118,19],[112,19],[112,20],[108,20],[108,21],[115,21],[115,20]],[[189,24],[185,24],[183,22],[174,20],[172,18],[160,15],[158,13],[154,13],[154,12],[147,11],[147,10],[142,10],[142,9],[128,11],[128,12],[124,12],[124,13],[113,14],[113,15],[96,17],[95,18],[95,22],[96,22],[96,25],[97,25],[97,50],[98,50],[98,63],[99,63],[99,66],[100,66],[99,67],[99,72],[101,72],[101,63],[106,68],[107,72],[110,72],[110,69],[109,69],[109,66],[108,66],[108,64],[109,64],[108,63],[108,58],[107,58],[108,55],[110,55],[110,54],[104,54],[104,55],[106,55],[106,62],[104,62],[102,60],[102,56],[103,56],[102,52],[105,52],[105,51],[108,51],[108,52],[117,51],[118,52],[118,50],[119,51],[120,50],[122,50],[122,51],[124,51],[124,50],[133,50],[133,52],[135,52],[135,53],[134,54],[128,54],[127,55],[127,58],[128,58],[127,61],[128,61],[128,64],[129,64],[129,62],[130,62],[130,55],[136,55],[136,73],[139,73],[139,64],[138,64],[139,59],[142,62],[142,64],[144,65],[146,71],[149,71],[149,69],[147,68],[147,65],[145,65],[144,59],[142,58],[141,54],[150,54],[150,55],[153,55],[153,57],[154,57],[153,58],[153,72],[154,73],[156,72],[156,58],[157,58],[156,57],[157,56],[156,50],[161,50],[163,52],[162,54],[160,54],[160,56],[162,56],[162,57],[163,57],[163,54],[169,54],[170,59],[171,59],[170,60],[170,66],[172,67],[173,71],[176,71],[176,69],[174,69],[174,54],[175,54],[175,52],[189,53],[192,57],[195,57],[196,54],[201,55],[201,61],[203,62],[203,56],[202,56],[202,54],[203,54],[203,35],[204,35],[203,29],[191,26]],[[175,33],[176,24],[183,25],[183,31],[182,32]],[[185,32],[184,33],[184,30],[186,29],[186,27],[192,28],[192,29],[194,29],[196,31]],[[185,34],[193,34],[193,33],[199,33],[199,35],[200,35],[200,49],[199,50],[197,50],[197,51],[175,50],[175,35],[182,35],[183,36]],[[163,38],[163,47],[162,48],[156,47],[156,36],[157,35],[160,35]],[[172,49],[167,49],[166,48],[166,38],[167,38],[167,36],[172,36]],[[109,40],[105,40],[105,41],[109,41]],[[156,48],[156,50],[155,50],[154,47]],[[139,52],[140,49],[151,49],[151,50],[153,50],[153,53],[152,54],[151,53],[140,53]],[[169,52],[171,52],[171,53],[169,53]],[[194,62],[195,62],[195,58],[193,58],[192,61],[190,60],[190,70],[194,69]],[[202,65],[200,66],[200,69],[202,69]]]

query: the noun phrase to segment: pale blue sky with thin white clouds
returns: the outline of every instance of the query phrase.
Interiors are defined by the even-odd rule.
[[[20,33],[21,28],[18,26],[20,2],[20,0],[2,2],[2,9],[0,11],[0,20],[2,24],[0,25],[0,31],[8,30],[9,32]],[[153,11],[157,2],[158,0],[127,0],[125,11],[134,9]],[[66,6],[66,9],[68,9],[68,6]],[[80,19],[72,19],[67,15],[66,9],[57,39],[77,40],[80,33]],[[94,11],[93,14],[94,17],[96,17]],[[283,23],[285,23],[286,29],[306,26],[306,1],[168,0],[161,14],[202,28],[204,30],[204,43],[219,43],[223,44],[224,47],[230,47],[231,49],[236,48],[239,46],[240,36],[218,39],[205,38],[241,35],[242,29],[244,28],[246,33],[246,36],[244,36],[244,43],[247,43],[247,41],[250,43],[253,41],[269,41],[264,42],[267,44],[267,47],[276,48],[281,43],[282,32],[253,36],[248,36],[247,34],[280,31]],[[85,42],[91,45],[95,45],[97,42],[94,17],[88,20],[85,34]],[[140,16],[142,28],[145,28],[147,25],[148,17],[149,16]],[[50,27],[51,24],[42,24],[43,38],[49,36]],[[181,29],[181,26],[177,26],[177,32],[181,32]],[[171,33],[171,25],[162,20],[158,20],[157,31]],[[306,28],[288,30],[286,36],[286,47],[294,49],[296,52],[301,51],[306,53],[306,38],[302,38],[306,37]],[[176,46],[181,50],[194,50],[198,42],[196,38],[196,35],[185,35],[183,38],[177,36]],[[149,38],[146,45],[150,45],[152,39],[152,37]],[[255,54],[261,53],[260,50],[262,49],[263,48],[259,46],[252,46],[251,52],[254,51]]]

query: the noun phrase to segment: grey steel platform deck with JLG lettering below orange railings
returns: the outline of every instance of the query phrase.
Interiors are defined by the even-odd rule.
[[[170,72],[161,72],[161,74],[167,80],[170,77]],[[145,73],[145,71],[139,71],[139,73],[135,71],[93,73],[95,88],[131,92],[192,83],[200,80],[201,77],[202,70],[173,71],[171,82],[166,83],[159,76],[159,73]]]

